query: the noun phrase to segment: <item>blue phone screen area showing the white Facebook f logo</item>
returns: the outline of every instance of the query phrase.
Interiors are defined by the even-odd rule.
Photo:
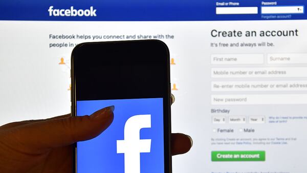
[[[77,172],[164,172],[163,98],[77,101],[77,116],[110,105],[113,123],[77,143]]]

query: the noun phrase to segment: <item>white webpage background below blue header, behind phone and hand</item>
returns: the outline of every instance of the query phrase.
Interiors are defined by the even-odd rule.
[[[172,132],[193,138],[190,152],[173,157],[173,172],[307,172],[306,122],[288,124],[212,124],[211,109],[229,109],[231,115],[291,116],[306,115],[305,105],[212,105],[212,94],[306,94],[305,91],[211,92],[211,81],[279,80],[280,78],[211,78],[211,68],[272,67],[263,64],[211,65],[211,55],[307,53],[307,21],[0,21],[0,125],[13,121],[43,119],[70,113],[70,54],[73,48],[49,48],[50,42],[84,42],[92,40],[51,40],[49,34],[85,35],[156,35],[170,34],[174,39],[161,39],[169,47],[171,82],[176,102],[172,105]],[[298,37],[230,37],[213,38],[212,29],[231,30],[299,30]],[[94,40],[94,41],[103,41]],[[266,48],[212,48],[211,42],[274,42]],[[98,55],[99,56],[99,55]],[[63,57],[68,66],[60,66]],[[103,55],[101,55],[103,57]],[[287,64],[274,65],[287,67]],[[292,64],[291,67],[305,67]],[[302,71],[301,73],[307,73]],[[292,78],[282,78],[292,80]],[[305,78],[294,78],[305,80]],[[225,115],[228,116],[228,115]],[[217,134],[212,129],[254,127],[254,134]],[[211,145],[211,138],[296,137],[288,145]],[[212,150],[265,150],[264,162],[211,162]]]

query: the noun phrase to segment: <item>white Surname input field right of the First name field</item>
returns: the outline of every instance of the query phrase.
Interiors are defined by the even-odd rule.
[[[268,54],[270,64],[307,63],[307,53],[275,53]]]

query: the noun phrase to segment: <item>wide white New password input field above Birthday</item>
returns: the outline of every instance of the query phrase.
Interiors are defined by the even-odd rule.
[[[212,105],[307,104],[307,94],[211,95]]]

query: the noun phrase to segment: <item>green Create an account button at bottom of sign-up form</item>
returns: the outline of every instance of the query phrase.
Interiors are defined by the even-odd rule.
[[[211,152],[213,162],[227,161],[265,161],[265,151],[213,151]]]

